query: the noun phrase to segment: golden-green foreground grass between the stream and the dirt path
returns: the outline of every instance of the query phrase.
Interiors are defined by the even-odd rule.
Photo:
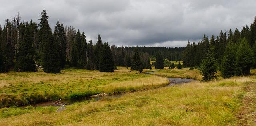
[[[57,107],[0,109],[0,125],[236,125],[244,85],[255,77],[191,82]]]

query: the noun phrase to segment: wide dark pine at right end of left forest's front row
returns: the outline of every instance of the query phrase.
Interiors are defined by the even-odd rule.
[[[113,55],[108,43],[104,43],[102,46],[102,55],[100,56],[99,70],[100,72],[114,72],[114,60]]]

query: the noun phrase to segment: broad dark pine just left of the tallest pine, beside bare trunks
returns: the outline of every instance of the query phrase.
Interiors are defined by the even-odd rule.
[[[28,22],[25,26],[24,36],[19,44],[16,69],[18,71],[36,71],[36,63],[34,55],[36,51],[33,47],[33,36],[30,34],[30,26]]]

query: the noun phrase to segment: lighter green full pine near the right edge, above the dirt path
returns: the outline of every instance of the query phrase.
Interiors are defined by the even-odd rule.
[[[242,39],[236,52],[236,61],[243,75],[249,75],[254,59],[252,49],[245,38]]]

